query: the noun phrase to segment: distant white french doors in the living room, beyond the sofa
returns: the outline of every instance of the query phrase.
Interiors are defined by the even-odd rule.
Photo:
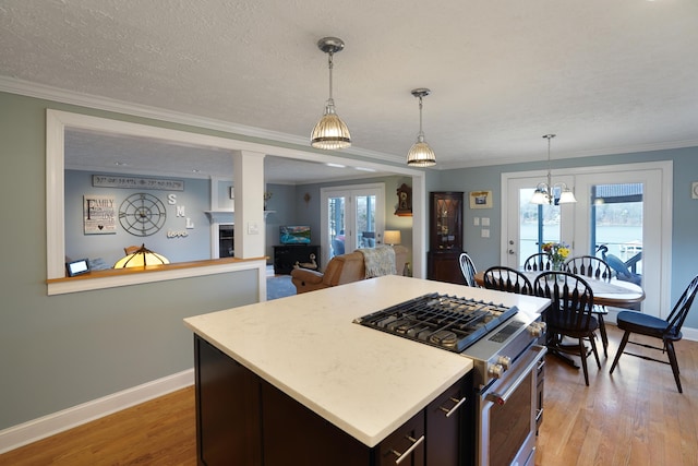
[[[382,242],[385,225],[384,184],[321,189],[321,246],[325,265],[335,255]]]

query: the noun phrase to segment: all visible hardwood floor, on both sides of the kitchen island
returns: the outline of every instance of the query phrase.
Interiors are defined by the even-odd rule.
[[[609,338],[601,370],[590,359],[589,387],[581,371],[547,357],[535,465],[698,465],[698,343],[676,345],[682,395],[658,362],[626,355],[610,375],[621,339],[613,325]],[[189,387],[8,452],[0,465],[195,465],[195,443]]]

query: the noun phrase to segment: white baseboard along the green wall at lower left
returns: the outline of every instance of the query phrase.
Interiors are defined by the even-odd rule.
[[[0,430],[0,454],[194,384],[194,369]]]

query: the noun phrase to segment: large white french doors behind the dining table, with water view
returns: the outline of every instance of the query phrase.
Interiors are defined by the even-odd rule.
[[[671,163],[587,167],[553,175],[575,188],[577,203],[530,204],[540,176],[503,174],[502,261],[518,268],[543,242],[571,255],[615,255],[642,286],[643,312],[669,312]],[[514,208],[510,208],[514,207]]]

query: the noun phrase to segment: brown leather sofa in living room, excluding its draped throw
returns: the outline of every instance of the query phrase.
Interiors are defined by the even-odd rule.
[[[392,248],[395,251],[396,274],[401,275],[405,270],[405,263],[407,262],[407,248],[399,244],[393,246]],[[324,273],[306,268],[293,268],[291,271],[291,282],[296,285],[297,295],[329,288],[330,286],[359,282],[365,279],[365,277],[366,267],[364,254],[360,250],[335,255],[327,263]]]

